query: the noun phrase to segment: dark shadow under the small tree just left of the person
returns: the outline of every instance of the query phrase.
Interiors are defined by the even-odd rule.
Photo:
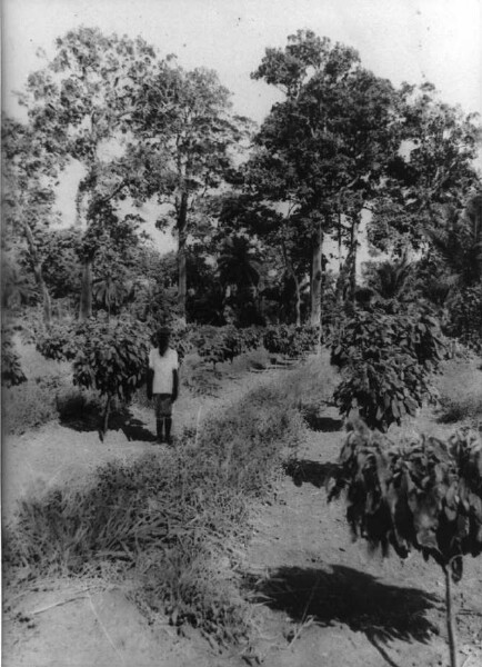
[[[100,434],[102,412],[97,406],[88,406],[84,409],[76,411],[66,411],[60,416],[60,424],[80,432],[98,431]],[[109,430],[121,430],[129,441],[153,442],[155,440],[154,434],[148,430],[140,419],[134,418],[132,412],[127,408],[114,410],[110,415]]]

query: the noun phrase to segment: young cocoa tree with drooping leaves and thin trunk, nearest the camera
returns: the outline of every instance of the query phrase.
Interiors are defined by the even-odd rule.
[[[451,666],[456,640],[451,584],[463,557],[482,554],[482,442],[469,430],[446,441],[424,437],[394,445],[355,424],[330,480],[329,501],[344,495],[347,519],[384,556],[390,547],[406,558],[412,549],[435,561],[445,577]]]

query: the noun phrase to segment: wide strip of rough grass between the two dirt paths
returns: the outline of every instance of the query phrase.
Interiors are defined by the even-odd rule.
[[[269,492],[303,437],[295,372],[185,432],[168,454],[110,462],[83,489],[23,500],[4,534],[8,579],[26,566],[42,577],[111,561],[153,619],[168,614],[180,630],[189,623],[218,645],[247,640],[250,614],[233,571],[250,501]]]

